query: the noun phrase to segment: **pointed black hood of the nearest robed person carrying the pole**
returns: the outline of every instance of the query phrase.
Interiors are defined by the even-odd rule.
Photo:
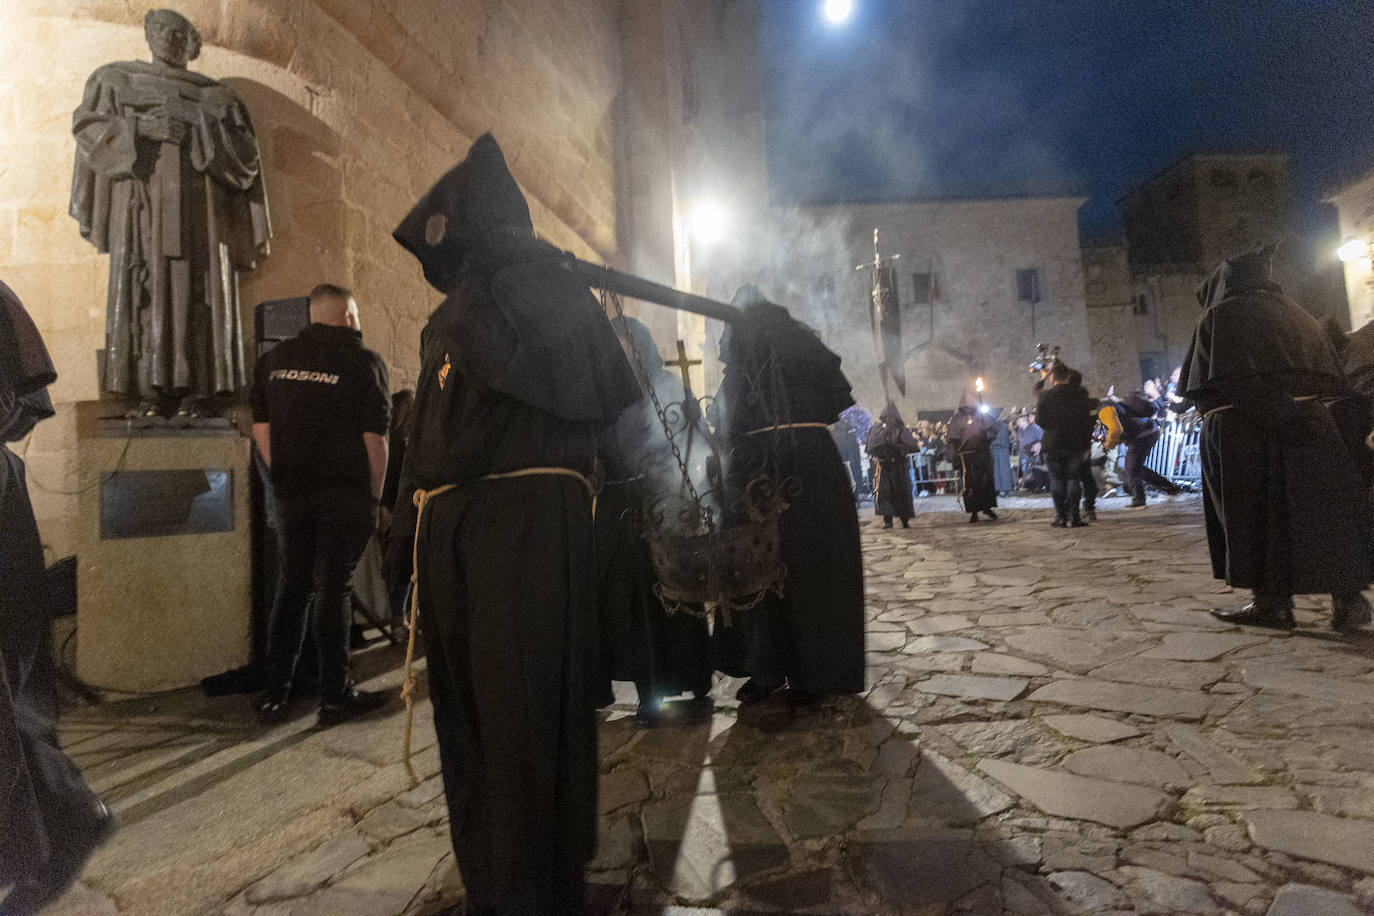
[[[496,137],[484,133],[467,158],[420,198],[392,233],[419,260],[425,279],[452,293],[463,261],[482,242],[533,238],[534,222]]]

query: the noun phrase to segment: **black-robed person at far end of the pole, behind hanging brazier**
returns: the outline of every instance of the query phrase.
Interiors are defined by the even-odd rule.
[[[851,407],[840,357],[753,286],[725,327],[721,433],[734,455],[761,455],[787,486],[779,519],[783,596],[736,611],[712,633],[717,667],[749,676],[736,696],[791,687],[796,702],[863,689],[863,560],[859,515],[827,424]],[[747,460],[747,459],[745,459]]]

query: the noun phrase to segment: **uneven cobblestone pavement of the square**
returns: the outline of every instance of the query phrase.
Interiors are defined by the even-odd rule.
[[[1226,626],[1195,497],[1048,527],[864,523],[863,698],[636,731],[603,715],[600,912],[1370,913],[1374,637],[1319,599],[1292,634]],[[393,650],[367,654],[396,684]],[[253,726],[190,692],[71,714],[124,828],[60,913],[447,912],[462,895],[429,705]],[[691,909],[701,908],[701,909]]]

